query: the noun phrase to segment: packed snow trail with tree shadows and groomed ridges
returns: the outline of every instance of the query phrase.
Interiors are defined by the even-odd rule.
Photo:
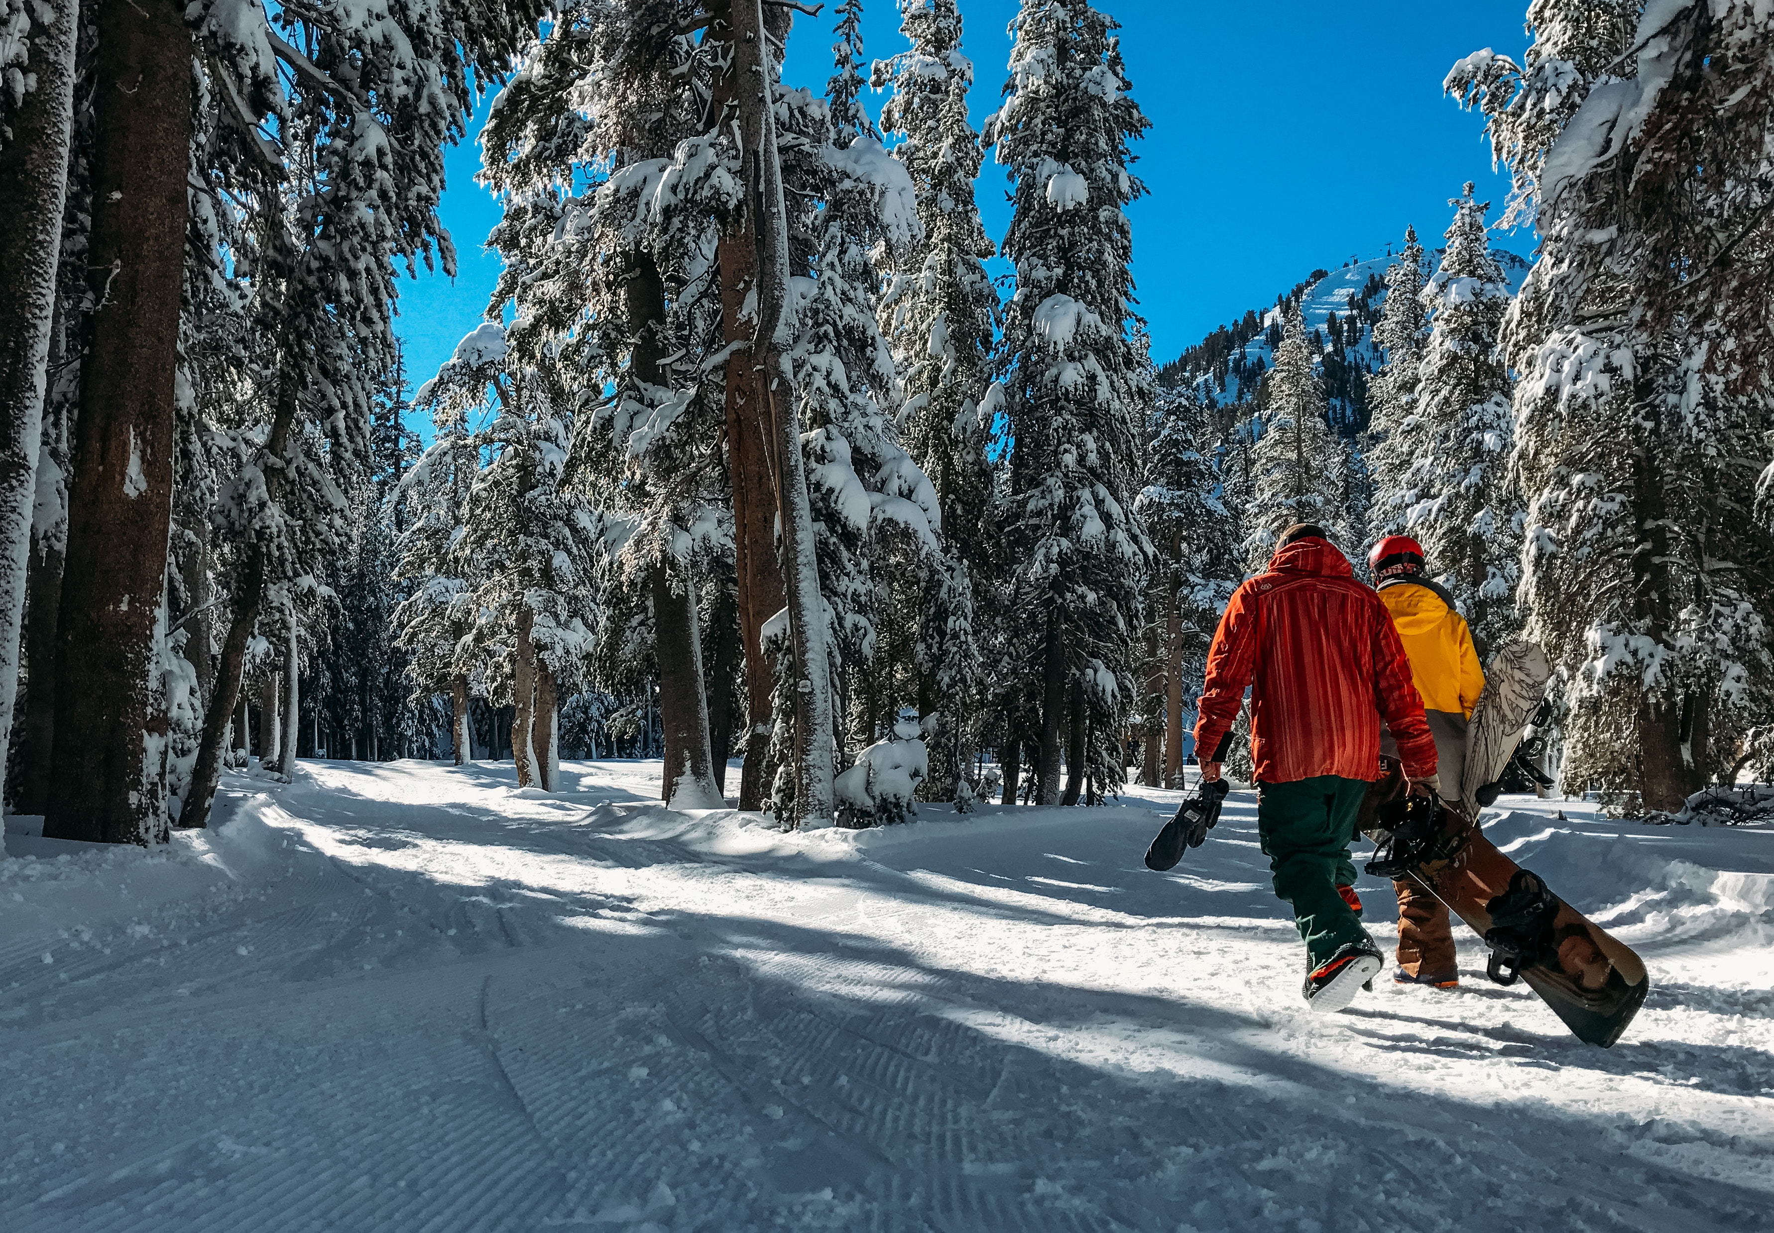
[[[1769,1228],[1774,830],[1492,825],[1652,967],[1600,1050],[1467,931],[1458,992],[1309,1017],[1249,793],[1155,875],[1180,793],[784,836],[562,777],[302,763],[167,852],[9,820],[0,1228]]]

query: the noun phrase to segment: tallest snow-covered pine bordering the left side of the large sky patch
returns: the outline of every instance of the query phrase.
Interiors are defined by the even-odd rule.
[[[1151,543],[1134,518],[1153,390],[1132,326],[1128,174],[1148,121],[1128,94],[1118,25],[1084,0],[1027,0],[1011,76],[985,140],[1015,183],[1002,252],[1017,264],[1004,314],[1011,609],[1027,630],[1008,671],[1038,683],[1043,804],[1123,782]]]

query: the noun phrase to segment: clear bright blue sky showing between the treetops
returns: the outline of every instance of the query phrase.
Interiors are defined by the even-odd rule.
[[[1151,130],[1135,172],[1150,195],[1132,208],[1134,277],[1153,358],[1174,358],[1213,326],[1261,307],[1315,266],[1373,257],[1416,224],[1430,247],[1478,181],[1501,213],[1506,183],[1490,170],[1476,115],[1440,92],[1448,67],[1478,48],[1519,55],[1524,0],[1338,5],[1102,0],[1121,25],[1134,98]],[[962,0],[974,60],[974,122],[999,101],[1013,0]],[[797,18],[784,76],[823,90],[832,73],[832,11]],[[867,55],[905,48],[892,0],[866,11]],[[878,112],[880,94],[869,94]],[[498,263],[481,245],[498,206],[474,183],[470,140],[447,154],[444,224],[456,279],[401,279],[397,332],[413,385],[449,358],[486,310]],[[979,209],[993,238],[1009,222],[1004,169],[986,156]],[[1503,247],[1531,255],[1533,238]]]

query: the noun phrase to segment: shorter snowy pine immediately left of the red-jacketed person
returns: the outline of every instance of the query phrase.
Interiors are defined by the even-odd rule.
[[[1219,468],[1203,452],[1206,408],[1194,390],[1166,390],[1146,445],[1146,486],[1135,509],[1158,552],[1153,621],[1160,649],[1164,768],[1183,786],[1183,703],[1201,692],[1208,644],[1231,593],[1244,580],[1238,520],[1226,506]]]

